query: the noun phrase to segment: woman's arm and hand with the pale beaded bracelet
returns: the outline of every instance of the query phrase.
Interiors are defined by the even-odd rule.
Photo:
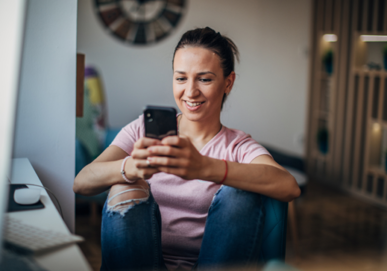
[[[146,158],[149,156],[146,148],[158,144],[160,144],[159,140],[147,138],[142,138],[135,143],[132,153],[141,158],[126,160],[124,171],[128,179],[149,179],[159,172],[156,168],[149,168],[146,163]],[[121,165],[126,156],[128,154],[117,146],[106,148],[100,156],[79,172],[74,180],[74,192],[91,196],[106,191],[114,184],[125,183],[121,175]]]

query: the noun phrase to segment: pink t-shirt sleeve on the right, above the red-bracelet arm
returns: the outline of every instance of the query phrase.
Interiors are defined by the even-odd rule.
[[[262,145],[253,140],[249,134],[238,143],[238,148],[236,148],[236,159],[239,163],[249,164],[254,158],[264,154],[271,156],[271,154]]]

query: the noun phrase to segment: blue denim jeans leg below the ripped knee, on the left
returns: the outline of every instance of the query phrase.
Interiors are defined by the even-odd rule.
[[[125,214],[102,210],[102,270],[166,270],[161,251],[161,215],[150,193],[148,201]]]

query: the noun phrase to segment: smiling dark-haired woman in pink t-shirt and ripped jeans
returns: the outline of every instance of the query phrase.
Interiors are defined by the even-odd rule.
[[[144,138],[140,116],[76,177],[76,193],[111,188],[102,215],[101,270],[257,262],[261,194],[291,201],[300,190],[266,149],[220,122],[237,56],[235,44],[211,28],[186,32],[173,58],[178,136]]]

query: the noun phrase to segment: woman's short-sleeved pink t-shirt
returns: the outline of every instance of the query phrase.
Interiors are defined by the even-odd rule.
[[[127,124],[111,145],[127,154],[134,143],[144,137],[144,116]],[[251,139],[249,134],[225,126],[200,151],[216,159],[250,163],[255,157],[269,152]],[[162,218],[161,243],[168,270],[190,270],[198,259],[208,209],[220,185],[204,180],[184,180],[160,172],[148,180],[159,205]]]

